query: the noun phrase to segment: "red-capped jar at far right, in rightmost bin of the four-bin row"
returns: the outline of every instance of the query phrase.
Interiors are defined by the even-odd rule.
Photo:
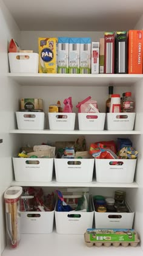
[[[135,112],[135,101],[131,98],[131,92],[125,93],[125,98],[123,99],[122,112]]]

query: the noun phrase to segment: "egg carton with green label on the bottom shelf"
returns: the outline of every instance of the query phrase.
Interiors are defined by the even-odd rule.
[[[95,246],[136,247],[139,243],[138,234],[134,229],[87,229],[84,240],[88,247]]]

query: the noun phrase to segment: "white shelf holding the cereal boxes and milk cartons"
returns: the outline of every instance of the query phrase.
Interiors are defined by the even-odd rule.
[[[130,86],[143,78],[143,74],[31,74],[8,73],[19,85],[38,86]]]

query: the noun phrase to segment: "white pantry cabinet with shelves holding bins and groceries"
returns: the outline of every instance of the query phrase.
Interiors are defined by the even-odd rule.
[[[130,6],[130,10],[122,6]],[[50,6],[50,8],[49,8]],[[81,8],[82,7],[82,8]],[[59,235],[55,231],[49,235],[21,236],[21,243],[16,250],[5,247],[4,204],[0,201],[0,231],[2,256],[39,256],[73,255],[143,255],[143,219],[142,219],[142,144],[143,144],[143,74],[12,74],[8,73],[7,44],[11,38],[19,42],[22,49],[34,49],[38,52],[38,37],[91,37],[98,41],[103,36],[102,31],[143,29],[142,0],[120,2],[94,1],[87,3],[82,0],[71,2],[49,2],[42,0],[40,3],[30,0],[21,4],[18,0],[0,0],[0,144],[1,177],[0,192],[3,198],[4,191],[9,186],[35,186],[55,190],[60,187],[88,187],[94,193],[112,193],[116,189],[127,191],[127,200],[135,211],[134,227],[138,231],[141,244],[138,247],[91,247],[84,243],[84,235]],[[74,15],[73,15],[74,13]],[[116,13],[114,15],[114,13]],[[36,18],[35,18],[36,17]],[[68,17],[68,18],[67,18]],[[84,17],[84,18],[83,18]],[[122,17],[122,18],[121,18]],[[138,23],[136,21],[138,20]],[[114,22],[116,21],[116,22]],[[50,27],[50,31],[46,31]],[[95,32],[96,31],[96,32]],[[101,32],[99,32],[101,31]],[[43,98],[45,113],[48,105],[58,99],[72,96],[73,105],[90,94],[99,102],[101,112],[104,112],[105,100],[108,97],[108,85],[113,84],[115,93],[131,91],[136,101],[136,125],[133,131],[52,131],[52,130],[17,130],[14,113],[18,110],[19,98]],[[76,110],[76,108],[75,108]],[[77,110],[76,110],[77,112]],[[16,182],[13,179],[12,156],[16,155],[22,144],[39,143],[40,140],[68,140],[85,135],[86,140],[111,140],[111,138],[129,137],[139,151],[136,168],[135,182],[133,183],[98,183],[95,179],[91,183],[63,183],[56,182]]]

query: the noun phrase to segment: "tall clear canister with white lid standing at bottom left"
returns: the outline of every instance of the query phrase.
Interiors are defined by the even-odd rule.
[[[4,193],[7,245],[16,248],[20,241],[19,199],[22,187],[10,187]]]

